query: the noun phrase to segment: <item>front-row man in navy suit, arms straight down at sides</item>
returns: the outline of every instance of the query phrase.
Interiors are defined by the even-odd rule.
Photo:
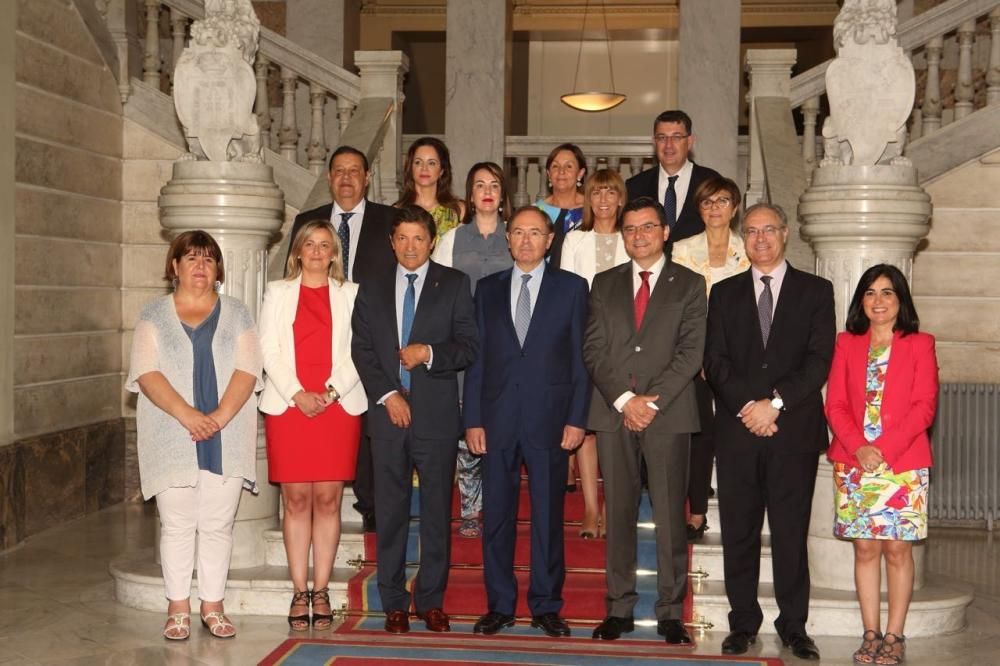
[[[531,626],[568,636],[559,617],[566,577],[566,458],[583,442],[590,379],[583,365],[587,281],[548,267],[552,222],[533,206],[514,213],[514,267],[476,286],[482,354],[465,374],[465,441],[483,455],[483,560],[488,613],[473,629],[514,624],[514,544],[521,463],[531,495]]]

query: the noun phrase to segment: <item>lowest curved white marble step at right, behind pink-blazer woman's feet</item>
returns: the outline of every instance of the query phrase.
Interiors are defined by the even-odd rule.
[[[713,631],[729,630],[729,600],[725,584],[721,581],[695,584],[694,619],[712,624]],[[761,583],[758,599],[764,612],[763,634],[774,634],[774,620],[778,605],[774,598],[774,585]],[[965,628],[966,607],[972,603],[972,592],[957,589],[953,580],[938,580],[928,576],[927,584],[913,593],[906,616],[906,635],[911,638],[940,636]],[[888,607],[882,596],[882,621]],[[806,630],[816,636],[860,636],[861,613],[853,591],[830,590],[813,587],[809,597],[809,621]]]

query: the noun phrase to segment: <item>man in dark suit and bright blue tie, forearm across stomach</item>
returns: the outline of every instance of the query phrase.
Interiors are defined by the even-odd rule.
[[[430,260],[430,213],[406,206],[392,225],[398,264],[368,276],[354,306],[351,355],[368,393],[375,467],[378,589],[385,629],[409,631],[406,541],[413,469],[420,478],[417,616],[449,631],[442,610],[448,582],[452,479],[462,431],[458,373],[479,351],[469,278]]]

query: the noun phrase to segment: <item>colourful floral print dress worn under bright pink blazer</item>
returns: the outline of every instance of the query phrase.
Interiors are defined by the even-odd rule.
[[[865,439],[882,435],[882,393],[891,346],[868,351],[865,386]],[[873,472],[834,463],[836,519],[834,536],[846,539],[927,538],[927,481],[929,470],[893,471],[887,464]]]

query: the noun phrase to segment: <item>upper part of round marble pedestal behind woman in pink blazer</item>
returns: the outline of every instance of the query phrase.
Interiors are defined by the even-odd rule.
[[[909,279],[917,243],[930,231],[930,195],[905,166],[824,166],[799,201],[802,236],[816,252],[816,274],[833,282],[837,328],[861,274],[878,263]]]

